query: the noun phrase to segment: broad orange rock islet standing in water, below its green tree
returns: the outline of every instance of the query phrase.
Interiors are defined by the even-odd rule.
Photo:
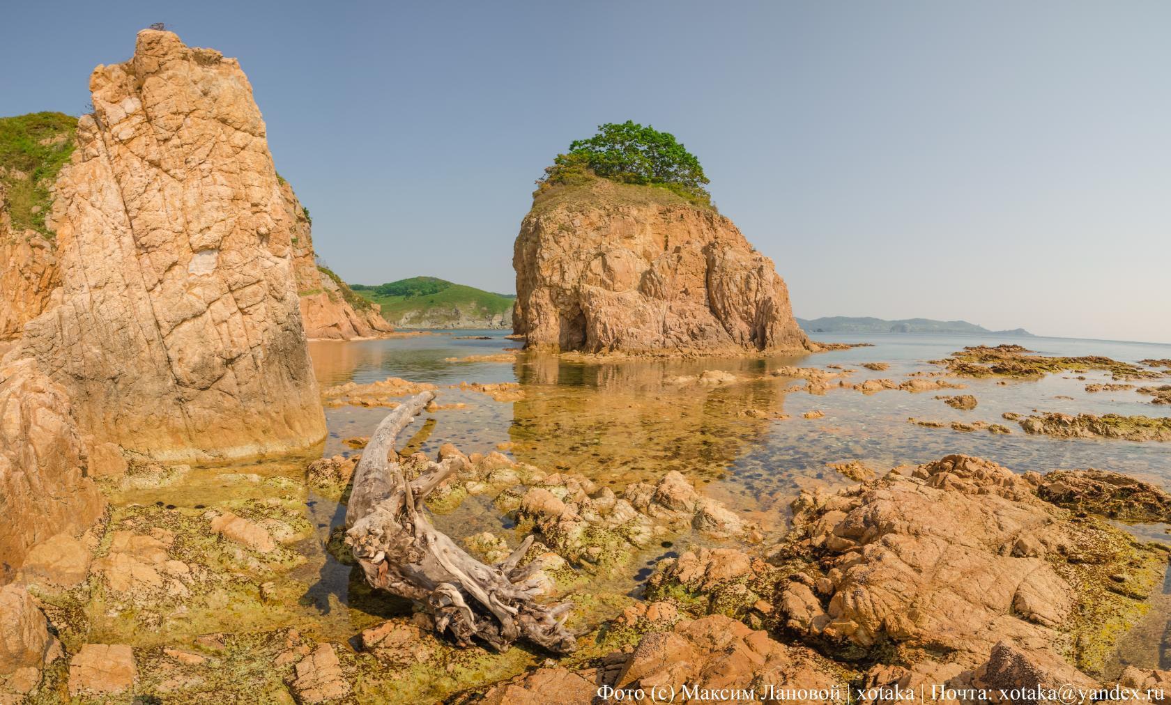
[[[598,179],[542,194],[513,267],[513,328],[533,348],[809,348],[772,260],[727,218],[662,189]]]

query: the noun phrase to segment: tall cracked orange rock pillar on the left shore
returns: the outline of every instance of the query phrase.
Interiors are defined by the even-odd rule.
[[[319,442],[295,223],[239,64],[143,30],[90,90],[50,217],[61,302],[19,355],[84,432],[158,459]]]

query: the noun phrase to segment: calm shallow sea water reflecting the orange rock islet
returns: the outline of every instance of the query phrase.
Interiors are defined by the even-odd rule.
[[[467,340],[460,336],[488,336]],[[924,463],[947,453],[979,454],[1015,471],[1100,467],[1141,474],[1171,484],[1165,444],[1118,440],[1054,439],[1026,436],[1004,422],[1006,411],[1124,413],[1169,416],[1171,408],[1149,403],[1134,391],[1089,393],[1091,382],[1109,382],[1101,372],[1076,379],[1050,375],[1036,382],[963,381],[979,401],[959,411],[936,399],[937,393],[884,391],[861,395],[830,390],[823,396],[788,391],[801,382],[766,376],[780,364],[855,369],[847,381],[933,371],[939,360],[965,345],[1019,343],[1042,355],[1105,355],[1119,361],[1171,357],[1171,345],[1008,336],[917,334],[820,334],[827,342],[869,342],[874,347],[769,360],[705,360],[684,362],[630,361],[603,364],[527,358],[516,363],[445,362],[445,358],[500,352],[516,345],[501,331],[453,331],[412,338],[313,343],[311,354],[323,386],[348,381],[372,382],[399,376],[444,388],[468,382],[519,382],[526,398],[495,403],[484,395],[441,390],[441,396],[468,404],[467,410],[437,415],[430,445],[447,440],[465,450],[486,451],[505,440],[515,443],[518,459],[539,466],[570,467],[602,479],[672,467],[704,478],[720,478],[742,490],[768,495],[792,488],[800,478],[823,479],[826,464],[860,459],[875,467]],[[886,362],[875,372],[864,362]],[[725,388],[679,388],[666,381],[679,375],[719,369],[747,378]],[[787,420],[746,418],[760,409],[786,413]],[[819,410],[817,420],[801,418]],[[342,409],[329,412],[334,440],[365,434],[383,410]],[[909,417],[932,420],[985,420],[1013,427],[1011,436],[925,429]],[[341,450],[331,444],[329,450]],[[751,498],[746,498],[748,501]]]

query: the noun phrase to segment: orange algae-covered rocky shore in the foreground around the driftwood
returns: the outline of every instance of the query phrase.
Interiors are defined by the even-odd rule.
[[[403,398],[413,389],[383,391]],[[314,642],[280,607],[289,596],[281,575],[303,562],[289,547],[311,533],[296,498],[309,485],[344,499],[356,460],[316,461],[301,481],[222,475],[228,484],[271,485],[271,497],[288,500],[199,511],[131,505],[108,511],[81,540],[61,534],[42,542],[0,594],[0,617],[22,635],[5,662],[20,665],[0,687],[60,687],[83,699],[241,692],[217,672],[227,668],[240,678],[261,653],[274,670],[256,682],[260,690],[244,692],[267,697],[260,693],[288,687],[300,703],[382,698],[388,692],[377,683],[388,673],[408,689],[390,701],[445,693],[454,703],[526,703],[549,693],[587,703],[598,692],[659,686],[1096,687],[1171,678],[1110,660],[1115,639],[1162,583],[1171,549],[1104,520],[1166,521],[1171,495],[1114,473],[1021,475],[966,456],[855,474],[861,484],[836,492],[803,491],[792,527],[763,541],[776,527],[746,523],[679,473],[617,492],[447,444],[438,460],[458,470],[429,505],[446,514],[492,498],[518,532],[532,533],[520,564],[532,564],[542,600],[573,604],[576,652],[516,660],[515,649],[460,648],[418,608],[368,622],[354,632],[357,651],[341,638]],[[416,453],[399,463],[413,477],[411,468],[430,459]],[[651,545],[678,541],[679,527],[692,543],[657,562],[645,601],[591,598],[588,586]],[[705,546],[704,536],[715,545]],[[489,562],[513,550],[506,535],[465,542]],[[348,561],[340,541],[330,546]],[[272,611],[263,620],[269,630],[201,632],[201,621],[227,625],[212,611],[224,600],[248,615]],[[186,612],[182,621],[170,616],[176,609]],[[165,648],[76,641],[109,620],[101,615],[118,612],[132,615],[133,629],[163,627]],[[123,629],[111,628],[98,631]],[[480,676],[468,680],[473,672]]]

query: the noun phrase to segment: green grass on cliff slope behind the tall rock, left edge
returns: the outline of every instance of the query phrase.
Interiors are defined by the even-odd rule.
[[[62,112],[0,117],[0,183],[8,192],[15,232],[34,230],[53,237],[44,226],[53,206],[49,189],[73,155],[76,134],[77,118]]]

